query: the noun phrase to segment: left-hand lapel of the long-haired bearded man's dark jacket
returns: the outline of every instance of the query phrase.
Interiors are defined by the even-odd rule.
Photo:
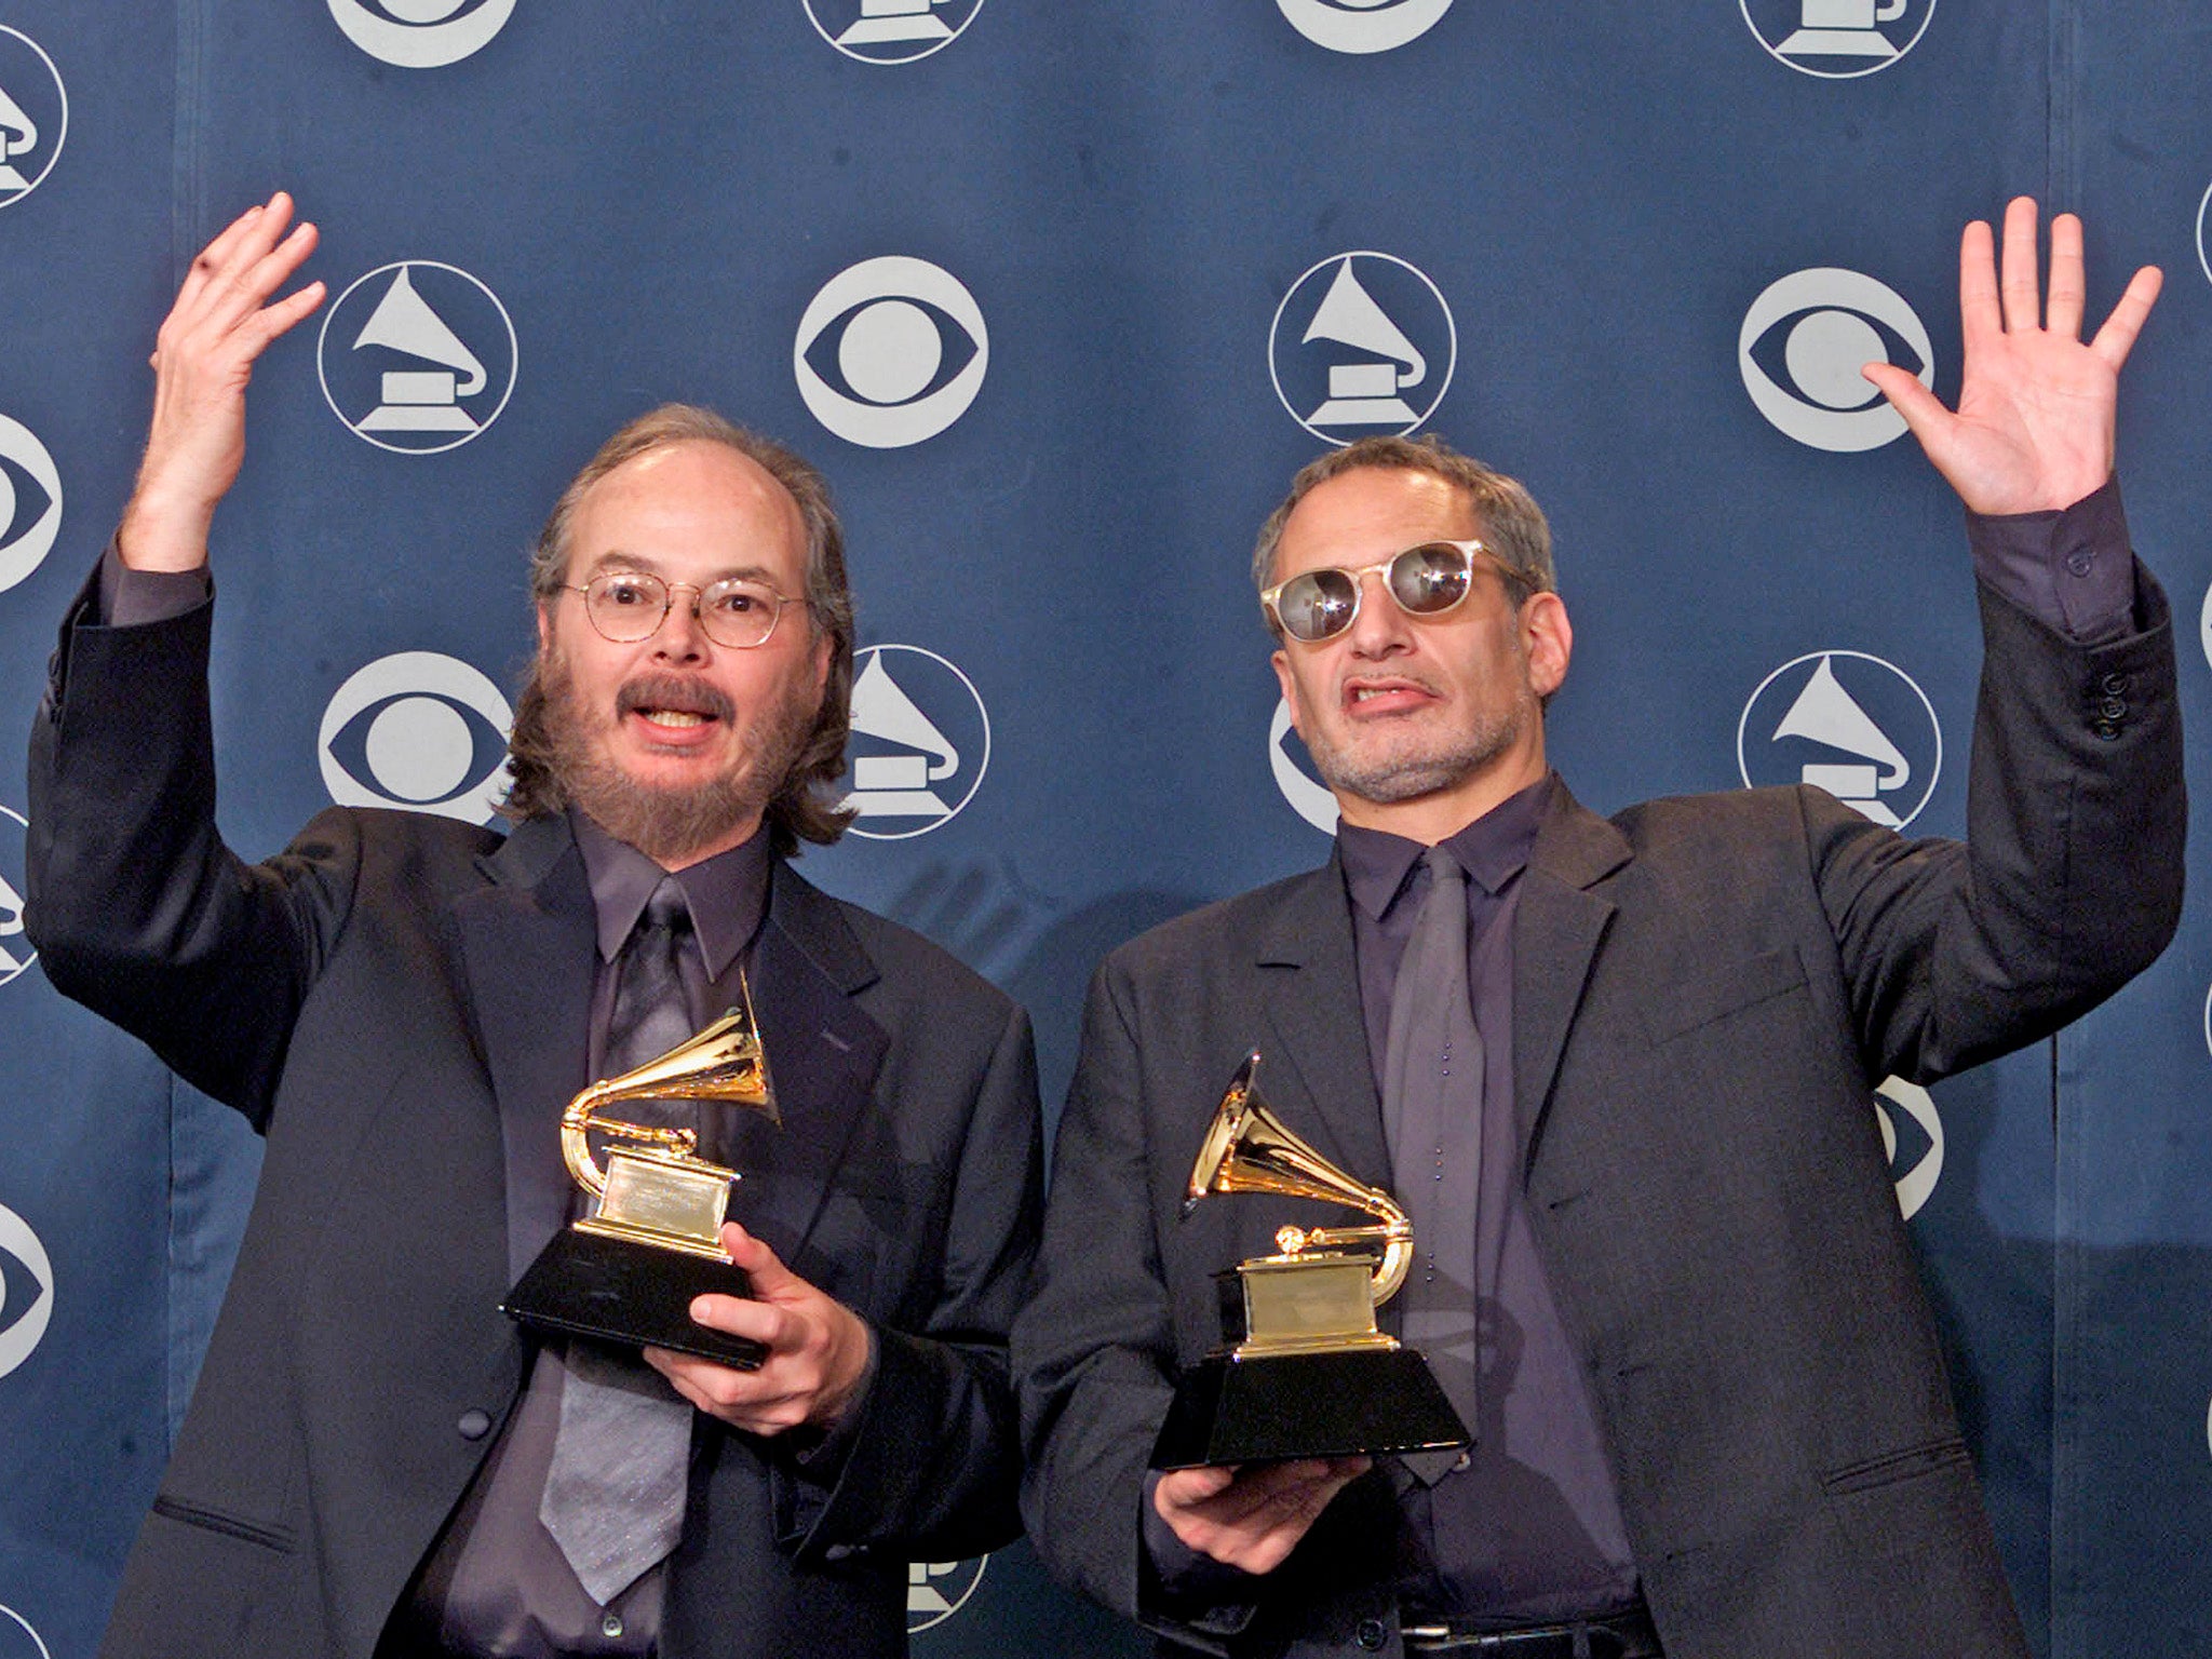
[[[480,860],[489,887],[453,905],[476,1037],[500,1102],[509,1281],[568,1212],[560,1115],[588,1082],[595,925],[584,858],[560,816],[531,818]]]

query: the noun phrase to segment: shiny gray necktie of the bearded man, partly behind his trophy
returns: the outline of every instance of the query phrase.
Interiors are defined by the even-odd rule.
[[[692,1033],[677,969],[688,933],[684,889],[675,876],[661,876],[615,964],[608,1075],[641,1066]],[[584,1593],[606,1606],[684,1533],[692,1409],[635,1354],[571,1343],[557,1358],[560,1429],[538,1520]]]

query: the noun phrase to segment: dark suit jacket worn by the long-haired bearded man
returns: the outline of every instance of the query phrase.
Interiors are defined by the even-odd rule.
[[[526,1374],[507,1168],[584,1086],[593,902],[564,818],[215,832],[208,606],[64,628],[31,743],[46,973],[268,1137],[111,1655],[369,1655]],[[905,1650],[909,1559],[1015,1531],[1004,1340],[1040,1203],[1022,1011],[790,867],[752,984],[783,1130],[732,1214],[869,1321],[849,1451],[701,1418],[661,1655]]]

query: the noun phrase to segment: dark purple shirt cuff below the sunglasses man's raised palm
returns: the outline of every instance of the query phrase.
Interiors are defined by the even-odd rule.
[[[2135,553],[2119,478],[2064,511],[1966,513],[1973,568],[1991,588],[2075,644],[2104,646],[2137,630]]]

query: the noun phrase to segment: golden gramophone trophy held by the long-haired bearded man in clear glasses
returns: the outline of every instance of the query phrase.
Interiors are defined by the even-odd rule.
[[[754,1369],[763,1347],[699,1325],[695,1296],[748,1296],[745,1272],[721,1245],[737,1170],[692,1157],[688,1128],[626,1124],[599,1113],[626,1099],[701,1099],[750,1106],[781,1124],[768,1057],[739,982],[739,1004],[699,1035],[619,1077],[595,1082],[562,1113],[560,1144],[593,1212],[544,1248],[500,1303],[500,1312],[560,1336],[668,1347],[719,1365]],[[604,1166],[591,1135],[606,1137]]]

